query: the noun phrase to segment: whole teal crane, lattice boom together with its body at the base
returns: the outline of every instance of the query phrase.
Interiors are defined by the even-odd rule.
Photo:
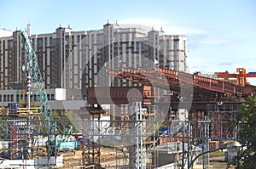
[[[27,31],[29,32],[29,28]],[[44,122],[44,125],[48,125],[49,127],[48,140],[50,147],[48,154],[56,155],[58,150],[76,149],[77,143],[67,139],[73,131],[71,125],[68,125],[67,128],[64,129],[64,135],[62,135],[60,139],[55,138],[57,124],[53,121],[53,114],[49,106],[43,77],[38,66],[37,56],[32,48],[27,32],[20,31],[20,35],[22,37],[23,47],[26,51],[28,111],[30,111],[30,96],[32,92],[34,92],[36,94],[37,102],[41,106],[41,119]],[[55,151],[55,149],[57,151]]]

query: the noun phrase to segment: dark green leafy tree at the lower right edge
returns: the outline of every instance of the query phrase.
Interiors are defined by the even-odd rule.
[[[248,97],[236,113],[237,140],[241,144],[232,164],[240,169],[256,168],[256,97]]]

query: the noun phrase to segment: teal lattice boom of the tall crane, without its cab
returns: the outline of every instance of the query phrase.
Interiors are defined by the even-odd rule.
[[[29,27],[27,27],[29,32]],[[44,87],[43,77],[41,75],[38,59],[26,31],[20,30],[22,37],[23,48],[26,51],[26,71],[27,71],[27,98],[28,98],[28,111],[30,111],[30,97],[32,91],[36,94],[37,102],[41,105],[41,119],[45,126],[48,126],[48,157],[52,154],[55,149],[55,138],[53,137],[56,128],[53,120],[52,111],[49,107],[47,93]],[[55,151],[56,154],[56,151]]]

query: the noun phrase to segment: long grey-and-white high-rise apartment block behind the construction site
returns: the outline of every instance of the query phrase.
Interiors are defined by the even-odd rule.
[[[54,33],[32,35],[31,40],[46,88],[138,85],[104,74],[122,67],[187,71],[187,37],[161,30],[106,24],[101,30],[73,31],[60,26]],[[19,31],[0,37],[0,89],[26,88],[22,48]]]

